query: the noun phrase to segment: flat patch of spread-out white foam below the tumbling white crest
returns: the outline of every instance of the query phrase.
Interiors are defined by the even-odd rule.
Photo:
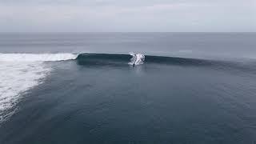
[[[14,114],[21,94],[38,86],[49,72],[43,62],[0,61],[0,123]]]

